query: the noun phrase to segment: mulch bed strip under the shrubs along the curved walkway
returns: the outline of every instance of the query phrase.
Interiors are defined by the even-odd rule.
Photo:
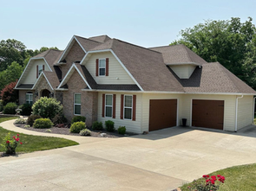
[[[69,131],[69,127],[63,127],[63,128],[58,128],[56,126],[50,128],[51,132],[46,132],[46,129],[35,129],[33,127],[30,128],[25,128],[24,126],[26,124],[15,124],[16,127],[20,127],[23,128],[25,130],[29,130],[29,131],[38,131],[38,132],[44,132],[44,133],[53,133],[53,134],[62,134],[62,135],[70,135],[70,136],[80,136],[79,133],[71,133]],[[104,137],[108,137],[108,138],[118,138],[118,137],[128,137],[128,136],[134,136],[136,135],[135,133],[130,133],[127,132],[125,135],[120,135],[118,134],[118,132],[115,130],[114,132],[108,132],[108,131],[95,131],[92,130],[91,128],[88,128],[89,131],[91,131],[91,135],[90,137],[102,137],[102,133],[105,133]]]

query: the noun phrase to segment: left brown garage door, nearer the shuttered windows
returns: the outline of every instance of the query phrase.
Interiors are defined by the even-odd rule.
[[[149,131],[176,126],[177,99],[150,99]]]

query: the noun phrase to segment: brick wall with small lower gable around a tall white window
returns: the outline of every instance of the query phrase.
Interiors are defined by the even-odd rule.
[[[86,87],[77,71],[72,74],[68,81],[69,91],[63,92],[63,113],[69,121],[74,115],[74,94],[81,93],[81,115],[86,117],[87,126],[97,120],[98,92],[82,91]]]

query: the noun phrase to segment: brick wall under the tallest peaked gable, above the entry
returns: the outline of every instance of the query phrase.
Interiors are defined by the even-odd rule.
[[[65,60],[67,61],[66,64],[62,65],[62,78],[68,73],[69,68],[72,66],[73,62],[75,61],[81,61],[83,56],[85,55],[84,51],[80,47],[80,45],[75,41],[72,48],[69,50],[69,54],[65,57]]]

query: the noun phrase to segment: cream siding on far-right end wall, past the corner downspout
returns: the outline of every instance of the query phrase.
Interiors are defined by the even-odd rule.
[[[253,96],[238,99],[238,130],[253,123]]]

